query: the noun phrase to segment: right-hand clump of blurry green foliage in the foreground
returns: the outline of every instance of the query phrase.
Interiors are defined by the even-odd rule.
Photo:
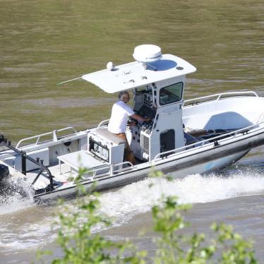
[[[246,264],[257,263],[251,241],[242,239],[239,234],[233,232],[232,227],[226,224],[212,224],[212,230],[216,233],[216,239],[209,246],[205,246],[204,234],[193,234],[191,237],[179,234],[179,230],[188,226],[181,215],[181,211],[187,210],[187,205],[176,203],[175,197],[163,198],[161,205],[152,208],[154,230],[160,234],[156,239],[157,253],[153,259],[156,264],[193,263],[201,264]],[[220,255],[213,261],[215,254]]]

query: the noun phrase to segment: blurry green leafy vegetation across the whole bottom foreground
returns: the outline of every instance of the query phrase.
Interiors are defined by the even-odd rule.
[[[152,176],[157,175],[161,173],[152,173]],[[181,212],[188,210],[190,205],[179,205],[172,196],[163,196],[160,204],[152,208],[153,228],[159,234],[155,239],[155,256],[138,251],[130,241],[109,240],[94,232],[95,228],[111,224],[107,216],[97,213],[98,196],[92,192],[88,200],[79,198],[75,201],[76,212],[66,208],[59,215],[61,228],[57,243],[64,256],[54,258],[52,263],[257,263],[251,241],[242,239],[226,224],[212,224],[215,234],[212,241],[207,241],[204,234],[184,234],[189,224]]]

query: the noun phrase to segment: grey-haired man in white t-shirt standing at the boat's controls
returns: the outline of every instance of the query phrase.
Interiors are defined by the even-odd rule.
[[[131,116],[133,119],[138,121],[148,121],[149,119],[145,119],[138,114],[135,114],[131,107],[127,104],[130,100],[130,95],[127,91],[119,92],[119,102],[114,103],[112,107],[112,114],[108,124],[108,130],[119,136],[119,138],[123,138],[126,140],[124,158],[126,161],[135,164],[135,157],[131,152],[131,149],[128,144],[128,140],[126,138],[126,126],[128,123],[128,116]]]

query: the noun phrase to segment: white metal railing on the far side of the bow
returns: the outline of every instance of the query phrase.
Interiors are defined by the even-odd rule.
[[[222,93],[217,93],[215,95],[207,95],[207,96],[203,96],[203,97],[198,97],[198,98],[194,98],[194,99],[190,99],[190,100],[186,100],[183,104],[183,107],[188,106],[188,105],[193,105],[193,104],[200,104],[203,102],[208,102],[208,101],[219,101],[223,98],[227,98],[227,97],[237,97],[237,96],[255,96],[258,97],[258,94],[256,92],[253,91],[245,91],[245,92],[222,92]]]

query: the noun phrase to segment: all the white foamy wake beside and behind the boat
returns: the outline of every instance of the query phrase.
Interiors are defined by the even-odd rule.
[[[264,193],[264,174],[252,171],[229,171],[228,176],[194,174],[173,181],[148,178],[116,191],[102,193],[100,212],[109,215],[114,226],[120,226],[136,215],[150,212],[153,205],[160,203],[162,195],[177,196],[181,204],[195,204],[260,193]],[[6,205],[0,205],[0,252],[11,253],[14,250],[17,252],[30,248],[35,250],[56,239],[59,227],[52,228],[51,225],[56,218],[54,215],[61,211],[61,208],[58,209],[54,205],[32,206],[30,199],[20,202],[19,195],[13,194],[7,199]],[[66,205],[68,210],[76,210],[76,205],[71,203],[71,200],[67,201]],[[30,206],[31,208],[27,208]],[[27,210],[18,211],[25,208]],[[12,217],[11,212],[15,212]],[[4,215],[5,213],[7,215]],[[94,231],[97,232],[98,228]]]

